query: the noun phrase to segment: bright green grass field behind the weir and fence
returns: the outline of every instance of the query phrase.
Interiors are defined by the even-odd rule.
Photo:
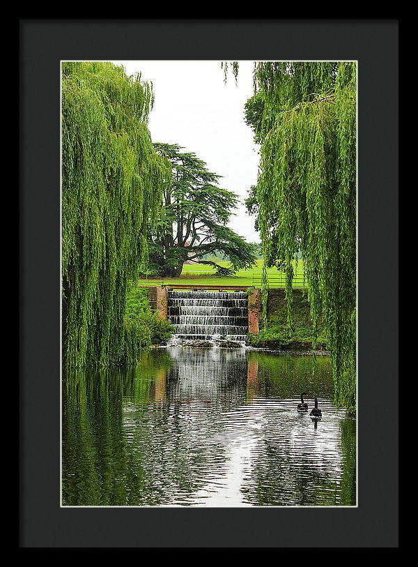
[[[228,266],[228,262],[218,262],[221,265]],[[192,285],[236,285],[247,287],[261,287],[261,271],[263,269],[263,260],[257,260],[256,266],[249,270],[242,270],[233,276],[216,275],[215,269],[206,264],[185,264],[180,278],[145,278],[138,281],[138,285],[149,287],[150,285],[176,285],[176,284],[192,284]],[[285,275],[276,268],[268,268],[268,286],[284,287]],[[306,287],[304,282],[303,262],[299,260],[295,262],[295,278],[293,287]]]

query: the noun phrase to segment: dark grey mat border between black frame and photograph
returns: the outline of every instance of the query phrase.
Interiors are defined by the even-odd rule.
[[[20,20],[20,547],[398,547],[398,24]],[[358,61],[357,508],[60,507],[60,62],[77,59]]]

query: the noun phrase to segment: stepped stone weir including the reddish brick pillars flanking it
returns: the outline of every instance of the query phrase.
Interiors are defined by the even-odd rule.
[[[258,333],[259,290],[151,288],[151,305],[175,328],[173,344],[234,342]]]

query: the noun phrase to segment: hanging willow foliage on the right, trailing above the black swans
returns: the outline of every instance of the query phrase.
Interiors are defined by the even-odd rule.
[[[356,407],[356,75],[353,62],[256,63],[263,100],[256,186],[265,264],[286,269],[302,252],[311,317],[320,311],[337,406]]]

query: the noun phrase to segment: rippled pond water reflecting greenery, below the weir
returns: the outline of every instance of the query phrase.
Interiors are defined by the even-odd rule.
[[[62,505],[356,506],[355,418],[333,398],[327,356],[167,347],[67,372]]]

